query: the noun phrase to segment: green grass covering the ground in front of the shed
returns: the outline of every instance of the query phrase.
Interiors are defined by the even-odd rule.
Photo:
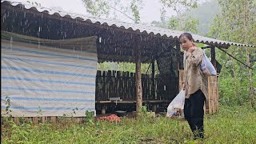
[[[256,112],[245,106],[221,106],[205,116],[205,140],[198,143],[256,143]],[[2,143],[195,143],[187,122],[122,118],[122,122],[2,126]]]

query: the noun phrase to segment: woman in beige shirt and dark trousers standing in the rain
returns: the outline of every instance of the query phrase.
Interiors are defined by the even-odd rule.
[[[184,114],[194,134],[194,139],[203,139],[203,106],[207,98],[207,78],[200,70],[203,52],[194,45],[190,33],[181,34],[179,40],[184,50],[184,80],[182,82],[182,89],[186,90]]]

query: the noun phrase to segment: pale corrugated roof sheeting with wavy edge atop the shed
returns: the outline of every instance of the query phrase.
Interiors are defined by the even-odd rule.
[[[38,12],[47,12],[48,14],[59,14],[62,17],[68,17],[68,18],[74,18],[74,19],[80,19],[82,21],[86,22],[92,22],[92,23],[100,23],[101,25],[108,25],[108,26],[115,26],[118,28],[122,29],[128,29],[128,30],[138,30],[141,33],[146,33],[146,34],[155,34],[155,35],[161,35],[163,37],[169,37],[169,38],[178,38],[180,34],[183,33],[183,31],[178,31],[178,30],[170,30],[170,29],[163,29],[163,28],[158,28],[154,26],[146,26],[146,25],[140,25],[140,24],[133,24],[133,23],[127,23],[127,22],[119,22],[119,21],[114,21],[110,19],[104,19],[104,18],[95,18],[95,17],[90,17],[82,14],[72,14],[68,13],[65,11],[61,10],[54,10],[42,6],[34,6],[31,5],[28,2],[15,2],[13,0],[1,0],[2,2],[9,2],[10,5],[12,6],[24,6],[26,9],[35,9],[38,10]],[[248,47],[256,47],[254,45],[247,45],[247,44],[241,44],[241,43],[236,43],[236,42],[227,42],[227,41],[222,41],[214,38],[207,38],[203,37],[197,34],[192,34],[193,38],[196,42],[202,42],[206,44],[215,44],[218,46],[248,46]]]

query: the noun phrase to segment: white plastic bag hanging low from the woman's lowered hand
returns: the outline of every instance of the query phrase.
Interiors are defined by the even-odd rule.
[[[185,90],[181,90],[167,107],[166,117],[184,118]]]

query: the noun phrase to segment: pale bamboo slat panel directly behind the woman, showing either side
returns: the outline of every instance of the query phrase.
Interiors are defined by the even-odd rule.
[[[179,70],[179,90],[182,88],[183,70]],[[208,77],[208,98],[205,102],[205,114],[218,112],[218,78],[217,76]]]

